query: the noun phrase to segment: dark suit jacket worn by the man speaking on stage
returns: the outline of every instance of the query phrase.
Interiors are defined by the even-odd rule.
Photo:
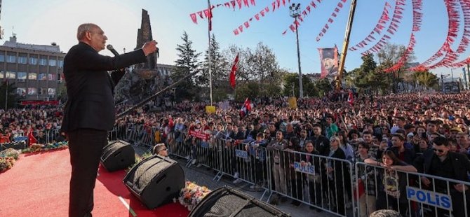
[[[64,58],[64,76],[68,100],[65,104],[62,132],[79,128],[112,130],[116,118],[114,85],[126,68],[145,62],[142,49],[116,57],[98,54],[90,45],[80,42],[70,48]]]

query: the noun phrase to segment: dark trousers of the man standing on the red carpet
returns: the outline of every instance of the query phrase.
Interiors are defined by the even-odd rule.
[[[79,129],[68,133],[72,177],[69,192],[69,216],[91,216],[93,189],[107,132]]]

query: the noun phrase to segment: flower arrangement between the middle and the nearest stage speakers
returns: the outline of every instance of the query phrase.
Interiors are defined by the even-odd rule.
[[[192,211],[192,209],[194,209],[194,207],[196,207],[196,205],[199,204],[199,202],[201,202],[210,192],[211,190],[205,186],[198,186],[196,183],[187,181],[186,187],[180,192],[178,201],[184,207],[187,207],[189,211]]]

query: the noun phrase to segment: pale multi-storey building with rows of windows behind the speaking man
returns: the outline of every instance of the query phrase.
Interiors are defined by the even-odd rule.
[[[16,87],[21,102],[48,102],[58,99],[65,53],[58,45],[18,43],[10,37],[0,46],[0,80]]]

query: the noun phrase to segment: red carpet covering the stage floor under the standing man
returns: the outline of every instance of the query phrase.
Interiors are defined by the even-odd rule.
[[[12,169],[0,174],[0,216],[67,216],[70,181],[69,150],[20,155]],[[93,216],[180,217],[189,211],[179,203],[154,210],[129,193],[124,171],[109,173],[100,167],[95,186]]]

